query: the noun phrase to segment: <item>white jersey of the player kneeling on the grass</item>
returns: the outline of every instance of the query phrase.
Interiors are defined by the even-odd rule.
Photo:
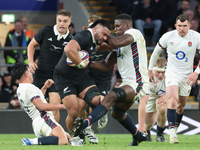
[[[32,103],[36,97],[40,97],[43,103],[47,103],[42,91],[38,87],[31,83],[20,83],[17,88],[17,95],[25,112],[32,120],[41,115],[40,110]],[[46,111],[46,113],[53,117],[52,111]]]

